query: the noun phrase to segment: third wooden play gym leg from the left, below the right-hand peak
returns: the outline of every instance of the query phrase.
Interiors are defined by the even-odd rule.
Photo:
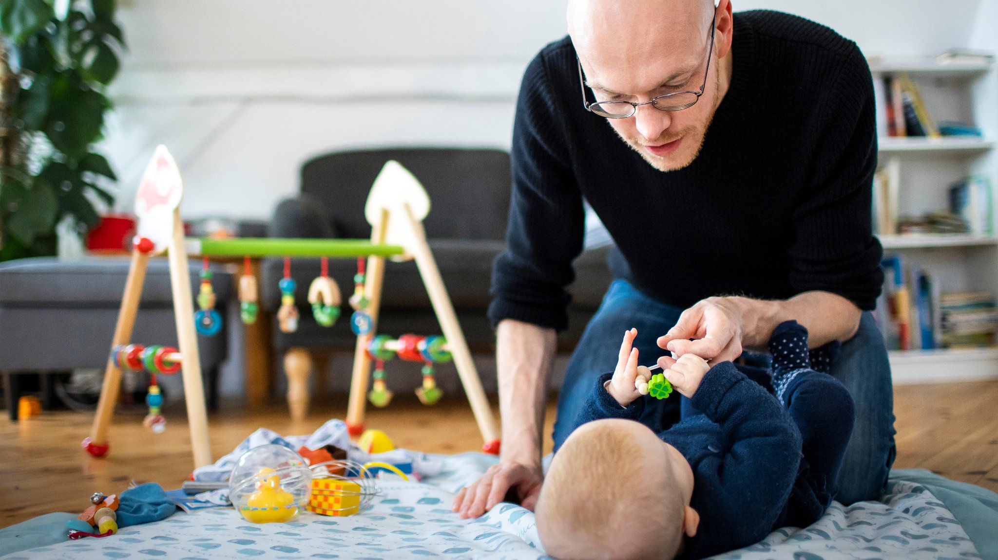
[[[388,211],[381,210],[381,220],[371,230],[371,243],[384,243],[388,231]],[[367,382],[370,376],[370,358],[367,356],[367,341],[377,332],[378,312],[381,308],[381,288],[384,284],[384,257],[372,256],[367,259],[364,295],[367,297],[367,314],[371,318],[371,332],[357,337],[353,352],[353,376],[350,380],[350,401],[346,410],[346,428],[351,435],[360,435],[364,430],[364,407],[367,398]]]

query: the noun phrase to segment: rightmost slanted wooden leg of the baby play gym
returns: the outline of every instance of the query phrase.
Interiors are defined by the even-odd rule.
[[[458,377],[461,378],[461,385],[464,386],[464,393],[471,403],[471,411],[475,414],[478,422],[478,429],[485,439],[485,449],[488,452],[499,451],[499,430],[496,428],[495,419],[492,417],[492,409],[489,401],[485,398],[485,390],[482,389],[482,381],[478,377],[475,363],[471,359],[471,351],[468,350],[468,343],[464,340],[464,332],[457,321],[457,314],[454,313],[454,306],[447,295],[447,289],[443,285],[443,278],[440,277],[440,270],[437,268],[433,253],[426,243],[426,233],[422,223],[412,215],[408,205],[404,207],[405,216],[411,227],[412,240],[408,244],[412,255],[419,268],[419,275],[423,278],[426,292],[430,296],[433,304],[433,311],[436,312],[437,321],[443,329],[443,335],[447,339],[447,346],[454,357],[454,366],[457,367]]]

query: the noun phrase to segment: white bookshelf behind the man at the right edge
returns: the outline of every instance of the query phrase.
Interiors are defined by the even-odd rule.
[[[992,213],[998,201],[998,77],[991,64],[937,65],[931,59],[871,60],[874,80],[907,73],[931,117],[973,124],[984,138],[878,139],[879,160],[899,164],[897,203],[901,215],[917,216],[948,205],[950,183],[971,174],[990,178]],[[878,103],[880,103],[878,101]],[[998,296],[998,232],[880,235],[884,254],[931,273],[943,292],[981,291]],[[912,325],[917,328],[917,325]],[[895,384],[998,379],[998,348],[891,351]]]

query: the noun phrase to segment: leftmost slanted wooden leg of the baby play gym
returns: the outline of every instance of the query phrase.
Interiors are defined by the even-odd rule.
[[[149,267],[149,254],[138,249],[132,251],[132,264],[125,280],[125,293],[122,296],[122,306],[118,310],[118,323],[115,334],[111,338],[111,349],[121,344],[128,344],[135,327],[135,316],[139,312],[139,299],[142,297],[142,285],[146,281],[146,269]],[[108,427],[115,413],[118,402],[118,391],[121,389],[122,372],[115,366],[108,352],[108,365],[104,368],[104,383],[101,386],[101,398],[97,402],[97,415],[94,425],[90,428],[90,437],[83,440],[84,448],[94,456],[102,456],[108,452]]]

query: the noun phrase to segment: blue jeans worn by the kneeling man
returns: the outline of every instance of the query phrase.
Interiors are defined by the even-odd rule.
[[[655,364],[664,354],[656,340],[676,325],[684,310],[641,293],[626,280],[615,280],[589,322],[572,354],[555,420],[555,449],[572,430],[575,419],[596,386],[596,379],[617,366],[624,331],[635,327],[639,363]],[[863,313],[859,330],[842,344],[831,375],[849,390],[855,402],[856,421],[838,477],[838,501],[850,504],[876,499],[887,482],[894,462],[894,394],[883,337],[872,314]],[[680,418],[679,400],[651,400],[642,422],[656,431]]]

